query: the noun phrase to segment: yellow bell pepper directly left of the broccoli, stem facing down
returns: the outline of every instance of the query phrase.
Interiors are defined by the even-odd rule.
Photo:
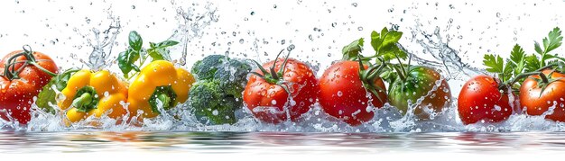
[[[131,116],[153,118],[159,115],[159,106],[169,110],[189,98],[194,76],[189,71],[174,67],[165,60],[156,60],[144,67],[129,86],[127,103]]]

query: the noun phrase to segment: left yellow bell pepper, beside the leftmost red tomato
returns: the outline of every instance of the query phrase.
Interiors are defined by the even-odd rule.
[[[81,121],[91,115],[100,117],[108,113],[110,118],[123,117],[127,110],[127,85],[107,70],[92,73],[83,69],[69,77],[61,94],[64,99],[57,104],[71,122]]]

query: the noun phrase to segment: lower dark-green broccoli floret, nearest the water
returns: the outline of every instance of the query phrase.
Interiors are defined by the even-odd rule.
[[[189,103],[198,121],[204,124],[236,123],[241,99],[222,94],[218,81],[199,81],[190,89]]]

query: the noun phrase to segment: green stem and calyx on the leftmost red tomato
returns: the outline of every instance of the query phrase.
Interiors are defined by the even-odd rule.
[[[17,61],[17,58],[19,58],[20,56],[25,57],[26,60]],[[37,67],[38,69],[42,70],[42,72],[44,72],[44,73],[46,73],[50,76],[57,76],[57,74],[45,69],[44,67],[40,66],[39,64],[37,64],[38,61],[41,61],[41,60],[35,59],[35,56],[33,56],[32,48],[29,45],[24,45],[22,52],[14,54],[14,56],[12,56],[12,57],[10,57],[6,60],[5,68],[4,68],[4,74],[0,75],[0,76],[5,76],[6,78],[8,78],[8,80],[19,79],[19,78],[21,78],[20,73],[22,73],[23,69],[28,65],[32,65],[33,67]],[[23,65],[21,67],[19,67],[19,68],[15,67],[15,65],[22,64],[22,63],[23,63]]]

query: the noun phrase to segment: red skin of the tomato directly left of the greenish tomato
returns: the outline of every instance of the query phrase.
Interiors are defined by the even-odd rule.
[[[376,79],[374,85],[382,88],[382,91],[377,92],[386,103],[388,99],[383,80]],[[380,102],[375,94],[371,94],[371,98],[373,99],[371,103],[375,107],[383,107],[384,103]],[[370,121],[375,116],[374,112],[366,111],[369,99],[359,78],[359,63],[357,61],[339,61],[326,69],[320,77],[319,101],[324,112],[338,118],[338,120],[347,122],[351,126]],[[358,113],[353,117],[353,113],[356,112]]]

